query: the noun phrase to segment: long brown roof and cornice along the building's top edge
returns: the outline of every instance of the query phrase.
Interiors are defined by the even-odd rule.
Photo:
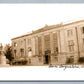
[[[51,26],[45,25],[43,28],[40,28],[40,29],[35,30],[35,31],[32,31],[30,33],[28,32],[28,33],[26,33],[24,35],[12,38],[11,40],[18,39],[18,38],[25,37],[25,36],[29,36],[29,35],[33,35],[33,34],[36,34],[36,33],[39,33],[39,32],[44,32],[44,31],[51,30],[51,29],[54,29],[54,28],[59,28],[59,27],[62,27],[62,26],[67,26],[67,25],[83,22],[83,21],[84,20],[79,20],[79,21],[75,21],[75,22],[64,23],[64,24],[60,23],[60,24],[51,25]]]

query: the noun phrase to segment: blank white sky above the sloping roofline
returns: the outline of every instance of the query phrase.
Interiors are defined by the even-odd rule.
[[[84,4],[0,4],[0,43],[32,30],[84,19]]]

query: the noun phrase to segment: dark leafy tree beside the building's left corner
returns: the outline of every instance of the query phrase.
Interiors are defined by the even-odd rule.
[[[11,64],[14,57],[12,54],[12,48],[11,48],[10,44],[6,44],[6,46],[4,47],[4,54],[5,54],[6,58],[9,60],[9,63]]]

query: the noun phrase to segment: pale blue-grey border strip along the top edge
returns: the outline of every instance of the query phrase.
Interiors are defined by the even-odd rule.
[[[84,3],[84,0],[0,0],[0,3]]]

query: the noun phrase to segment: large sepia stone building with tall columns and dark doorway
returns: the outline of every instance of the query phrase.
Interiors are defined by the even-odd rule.
[[[16,61],[25,59],[34,65],[78,63],[84,57],[84,20],[46,25],[11,40]]]

